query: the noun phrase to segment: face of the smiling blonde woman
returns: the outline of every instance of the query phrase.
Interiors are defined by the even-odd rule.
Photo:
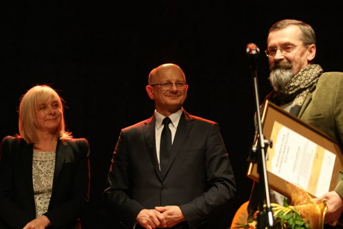
[[[36,122],[39,131],[55,132],[62,119],[62,104],[55,96],[44,102],[36,111]]]

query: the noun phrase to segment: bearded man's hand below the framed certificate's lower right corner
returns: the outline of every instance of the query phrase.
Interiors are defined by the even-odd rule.
[[[326,193],[321,197],[313,199],[316,203],[327,200],[327,213],[325,214],[324,223],[336,226],[340,215],[343,212],[343,199],[335,191]]]

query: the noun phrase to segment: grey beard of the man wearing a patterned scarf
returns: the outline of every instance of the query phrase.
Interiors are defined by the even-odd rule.
[[[288,61],[276,62],[270,66],[270,84],[274,91],[280,91],[293,78],[292,64]]]

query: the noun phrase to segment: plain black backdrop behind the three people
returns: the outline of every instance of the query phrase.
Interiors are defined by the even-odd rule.
[[[0,138],[18,133],[19,98],[48,84],[67,101],[67,127],[91,146],[91,199],[84,228],[110,228],[101,204],[123,127],[152,116],[150,70],[176,63],[189,83],[185,109],[220,124],[237,182],[231,219],[248,200],[246,158],[255,99],[246,45],[256,43],[261,100],[272,89],[263,54],[270,26],[298,19],[317,34],[316,63],[343,72],[339,1],[3,1]]]

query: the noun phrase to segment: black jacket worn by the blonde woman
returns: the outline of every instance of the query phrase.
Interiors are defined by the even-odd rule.
[[[33,145],[7,136],[0,148],[0,228],[23,228],[36,218]],[[88,201],[89,147],[85,139],[58,141],[49,209],[54,228],[73,228]],[[1,224],[2,223],[2,224]]]

